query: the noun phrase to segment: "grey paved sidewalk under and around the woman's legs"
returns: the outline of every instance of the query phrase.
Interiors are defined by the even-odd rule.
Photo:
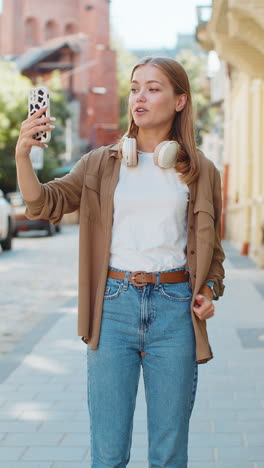
[[[224,245],[227,286],[207,322],[215,357],[198,367],[188,468],[264,468],[264,272]],[[76,298],[0,361],[1,377],[0,466],[88,468],[86,346],[76,336]],[[133,434],[128,466],[146,468],[142,378]]]

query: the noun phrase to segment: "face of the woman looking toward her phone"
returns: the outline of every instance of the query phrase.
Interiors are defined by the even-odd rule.
[[[164,128],[164,131],[169,131],[178,99],[169,79],[157,67],[146,64],[135,70],[129,108],[139,128]]]

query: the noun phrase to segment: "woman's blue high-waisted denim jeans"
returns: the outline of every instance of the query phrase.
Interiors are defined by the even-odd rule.
[[[107,279],[98,348],[87,345],[91,468],[123,468],[130,460],[141,366],[149,467],[186,468],[198,378],[192,289],[160,283],[159,273],[156,284],[137,287],[129,274]]]

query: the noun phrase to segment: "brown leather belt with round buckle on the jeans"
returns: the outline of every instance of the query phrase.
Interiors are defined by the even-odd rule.
[[[189,280],[189,272],[187,270],[176,270],[168,272],[160,272],[160,283],[185,283]],[[108,270],[108,278],[124,280],[126,271]],[[148,283],[156,283],[156,274],[147,273],[146,271],[132,271],[128,281],[134,286],[146,286]]]

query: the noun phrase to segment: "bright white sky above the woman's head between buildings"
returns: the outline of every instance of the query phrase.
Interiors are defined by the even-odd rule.
[[[111,0],[110,20],[128,49],[171,48],[178,33],[194,33],[197,5],[211,0]]]

